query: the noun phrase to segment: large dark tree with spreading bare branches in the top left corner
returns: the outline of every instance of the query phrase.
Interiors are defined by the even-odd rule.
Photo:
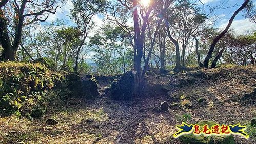
[[[21,44],[23,27],[34,22],[44,22],[49,13],[55,14],[58,1],[2,1],[0,7],[0,43],[2,58],[15,60]]]

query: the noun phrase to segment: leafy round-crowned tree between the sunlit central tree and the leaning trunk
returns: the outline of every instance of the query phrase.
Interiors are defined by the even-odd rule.
[[[169,8],[168,13],[171,14],[166,17],[166,32],[176,47],[175,70],[179,71],[187,63],[187,47],[193,41],[193,36],[198,35],[206,16],[201,14],[200,8],[190,1],[178,1],[173,8]],[[181,44],[181,57],[179,44]]]

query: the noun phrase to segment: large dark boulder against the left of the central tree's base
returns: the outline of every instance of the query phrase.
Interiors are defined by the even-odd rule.
[[[111,98],[115,100],[130,100],[133,97],[134,75],[132,71],[114,80],[111,84]]]

